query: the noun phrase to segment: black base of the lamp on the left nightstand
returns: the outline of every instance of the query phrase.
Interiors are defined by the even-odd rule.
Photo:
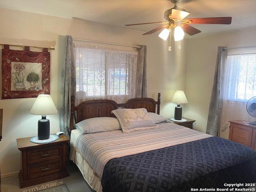
[[[38,120],[38,139],[45,140],[50,137],[50,121],[46,119],[46,115],[42,115],[42,119]]]

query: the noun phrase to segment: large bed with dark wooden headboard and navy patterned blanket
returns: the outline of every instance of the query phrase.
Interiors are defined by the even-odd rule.
[[[90,100],[74,106],[76,123],[114,117],[117,108],[146,108],[159,114],[158,100],[134,98],[125,104]],[[70,126],[71,127],[71,126]],[[227,188],[225,183],[256,182],[256,153],[235,142],[171,122],[158,128],[82,134],[71,130],[70,160],[97,192],[181,192],[192,188]]]

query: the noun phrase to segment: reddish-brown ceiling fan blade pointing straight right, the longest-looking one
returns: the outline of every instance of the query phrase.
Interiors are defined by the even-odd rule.
[[[190,22],[191,24],[231,24],[232,17],[209,17],[209,18],[191,18],[186,19],[184,22]]]

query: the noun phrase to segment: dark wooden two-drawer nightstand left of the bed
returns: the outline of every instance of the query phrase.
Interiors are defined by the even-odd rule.
[[[17,139],[22,166],[19,173],[20,188],[69,176],[66,170],[66,144],[69,138],[62,136],[44,144],[32,143],[30,138]]]

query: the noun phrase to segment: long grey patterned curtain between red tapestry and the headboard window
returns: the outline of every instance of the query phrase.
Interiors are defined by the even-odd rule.
[[[76,93],[76,64],[72,36],[66,36],[66,50],[61,73],[60,130],[70,137],[71,96]]]

